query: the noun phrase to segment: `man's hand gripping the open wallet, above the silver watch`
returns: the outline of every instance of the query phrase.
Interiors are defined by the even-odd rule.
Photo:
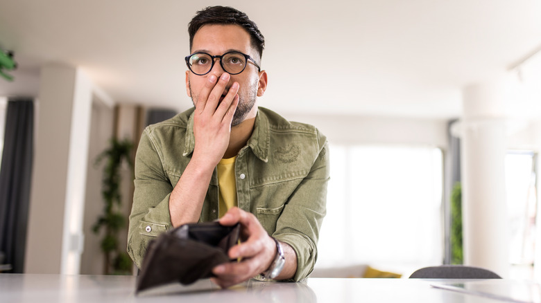
[[[220,223],[224,226],[232,226],[237,222],[241,223],[241,238],[245,241],[230,248],[229,257],[241,258],[241,261],[221,264],[212,270],[217,276],[212,278],[212,281],[222,288],[239,284],[263,273],[271,266],[276,255],[275,241],[250,212],[231,208],[220,219]]]

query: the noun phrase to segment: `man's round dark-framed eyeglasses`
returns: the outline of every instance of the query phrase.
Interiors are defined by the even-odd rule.
[[[207,53],[193,53],[184,59],[186,59],[186,65],[190,71],[196,75],[206,75],[214,67],[214,59],[220,59],[220,65],[223,71],[230,73],[230,75],[237,75],[244,71],[248,60],[252,60],[252,63],[257,66],[257,71],[261,71],[261,68],[255,60],[249,55],[243,54],[237,51],[230,51],[221,56],[213,56]]]

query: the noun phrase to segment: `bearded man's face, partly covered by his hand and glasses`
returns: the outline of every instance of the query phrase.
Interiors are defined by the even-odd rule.
[[[237,25],[212,24],[203,26],[194,36],[191,53],[204,52],[210,55],[223,55],[231,50],[250,55],[256,62],[259,62],[259,55],[250,45],[250,35]],[[218,62],[219,59],[215,60],[212,70],[206,75],[186,72],[187,91],[194,105],[198,101],[199,92],[205,86],[208,77],[216,75],[219,78],[224,73],[220,62]],[[231,75],[230,81],[223,91],[223,96],[227,94],[234,82],[239,83],[239,105],[234,113],[232,126],[237,126],[246,119],[255,118],[257,113],[256,97],[263,95],[266,87],[266,74],[264,71],[258,73],[257,66],[248,62],[242,73]]]

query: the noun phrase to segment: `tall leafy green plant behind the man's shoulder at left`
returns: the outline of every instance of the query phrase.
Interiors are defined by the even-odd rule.
[[[103,230],[101,250],[105,256],[105,275],[129,275],[132,270],[130,256],[119,248],[119,231],[126,228],[126,217],[120,211],[121,165],[126,162],[130,169],[133,167],[132,148],[130,140],[113,138],[110,147],[96,158],[96,165],[105,160],[101,190],[104,205],[103,213],[92,226],[92,231],[97,235]]]

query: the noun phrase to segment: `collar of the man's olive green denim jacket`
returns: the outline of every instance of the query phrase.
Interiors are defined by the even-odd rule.
[[[196,139],[194,136],[194,112],[190,113],[184,137],[184,152],[182,156],[188,156],[194,152]],[[268,118],[259,109],[255,116],[254,130],[252,136],[248,139],[246,145],[252,149],[252,152],[265,163],[268,161],[268,150],[271,142],[271,131],[269,131]]]

